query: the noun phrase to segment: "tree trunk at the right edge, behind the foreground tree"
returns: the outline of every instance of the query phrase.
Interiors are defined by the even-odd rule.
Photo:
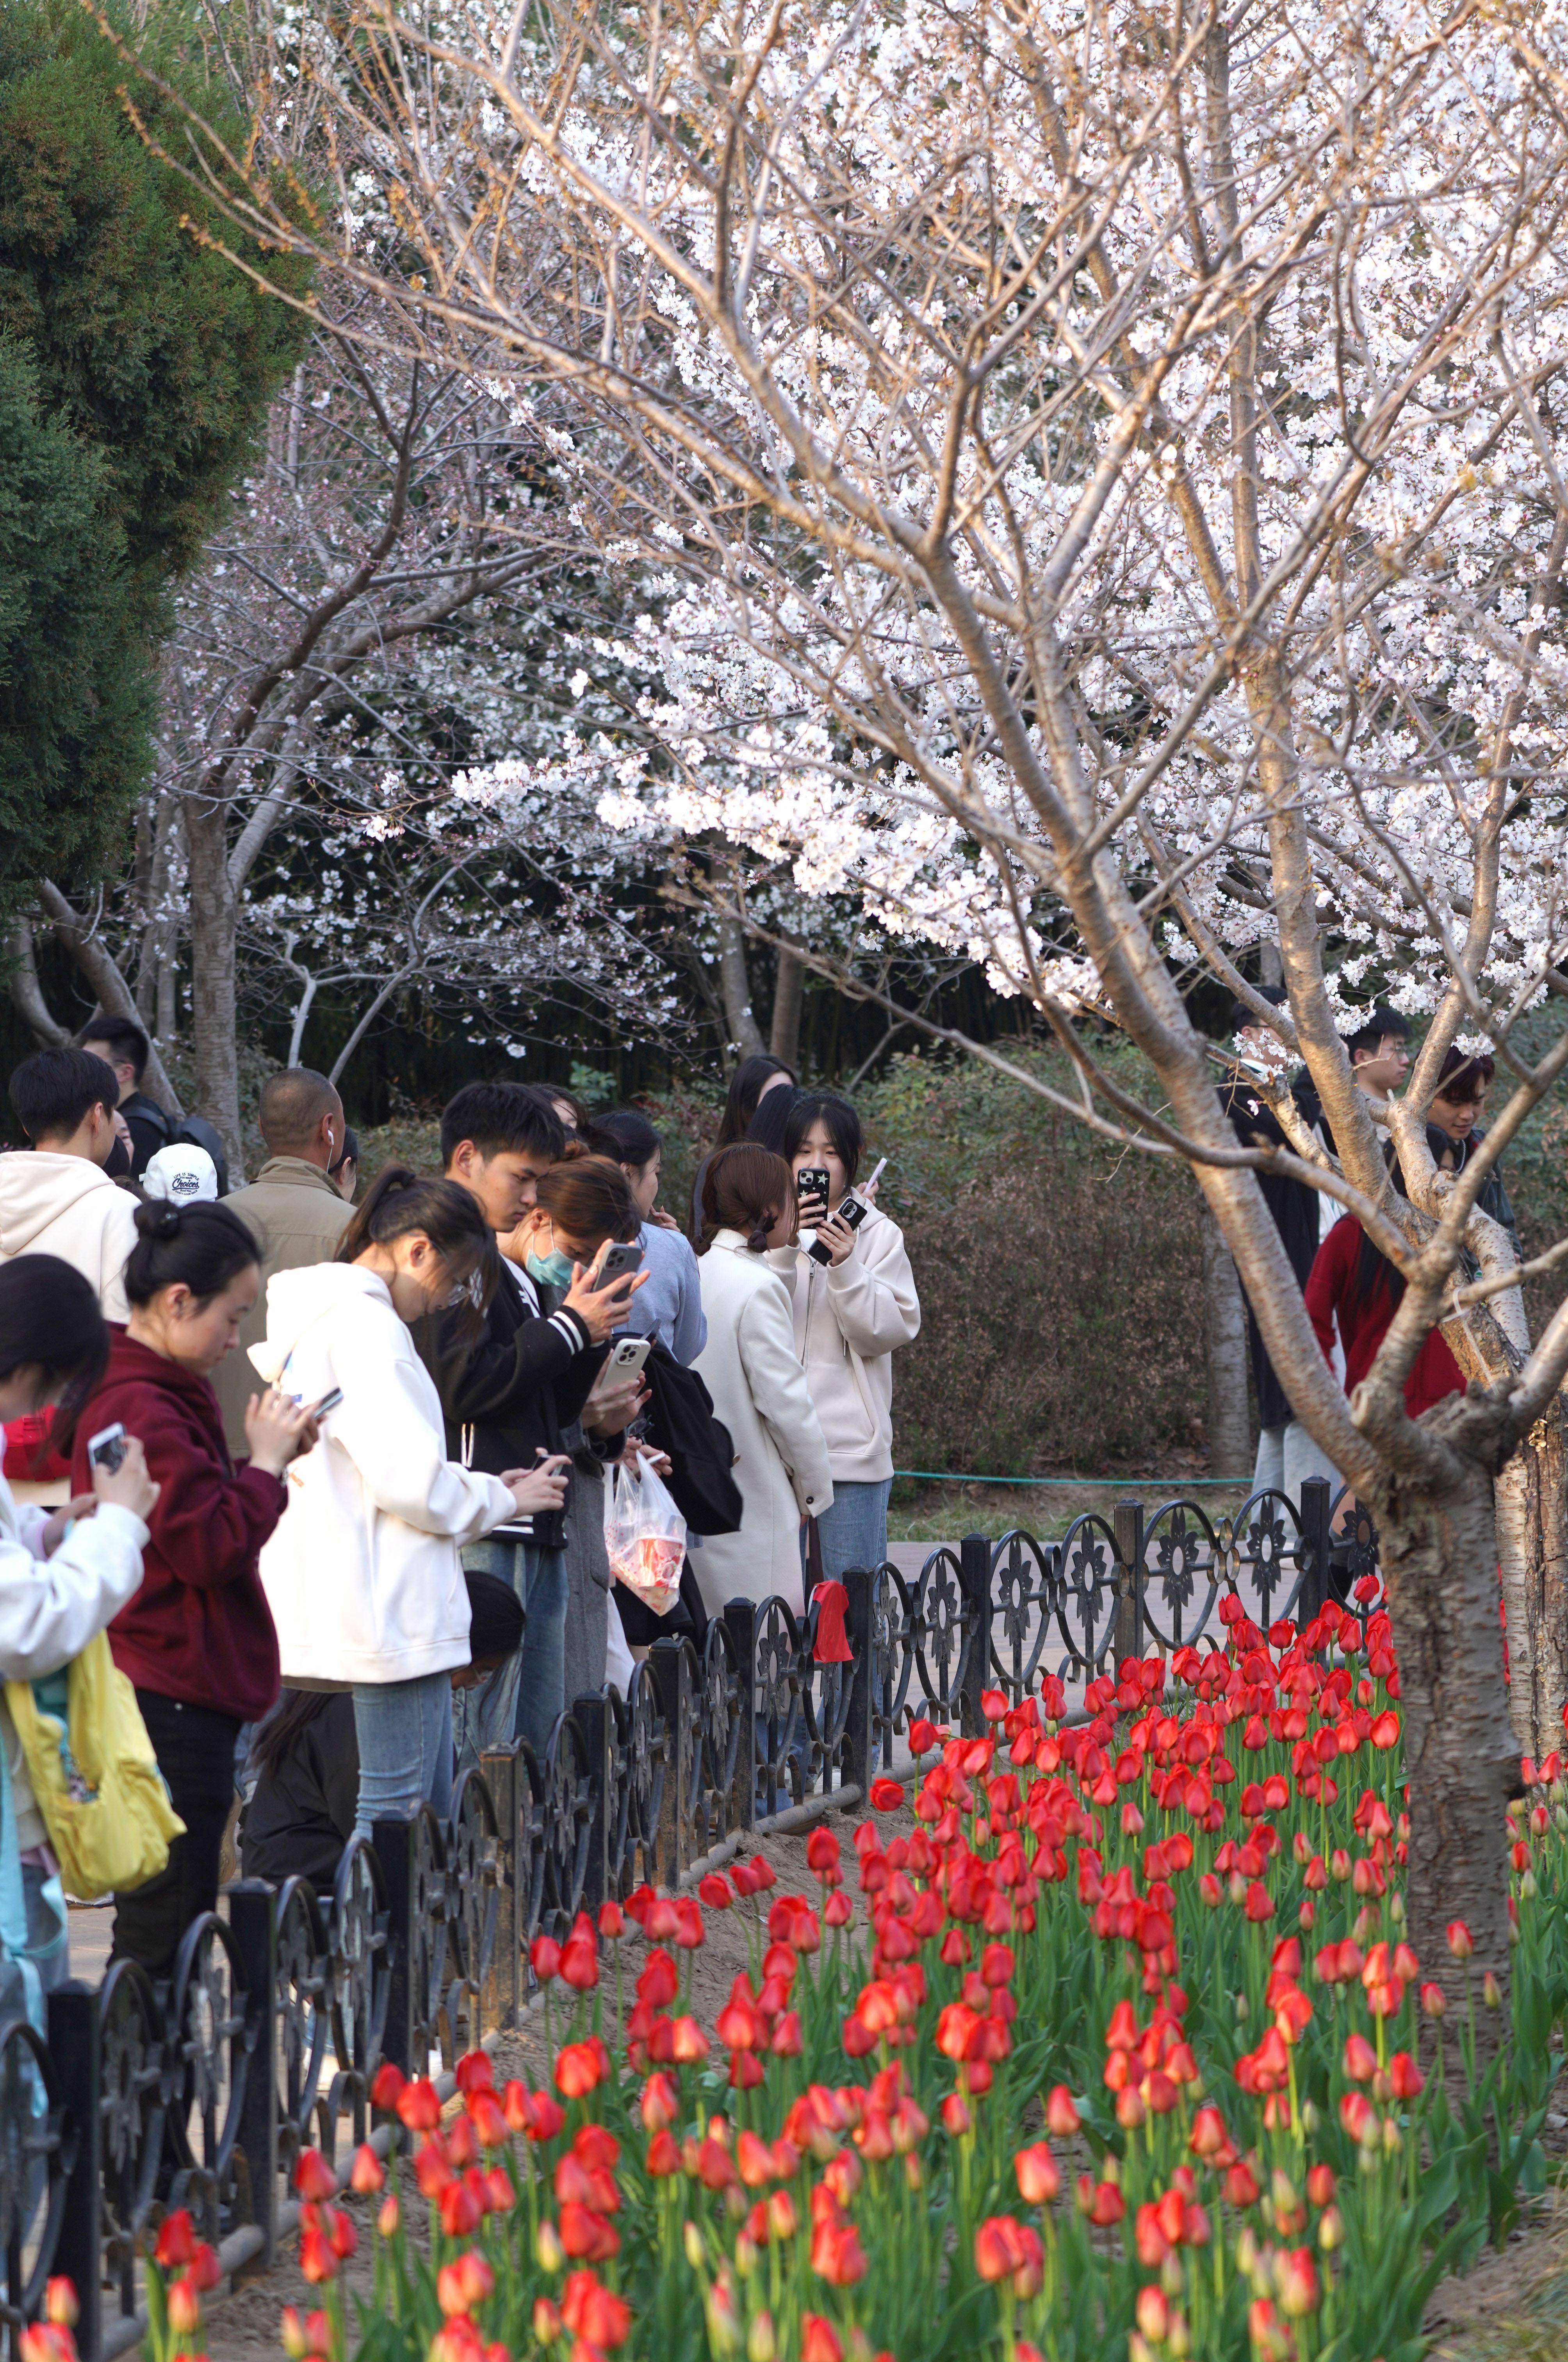
[[[1568,1701],[1568,1405],[1559,1394],[1497,1476],[1509,1720],[1525,1755],[1563,1746]]]

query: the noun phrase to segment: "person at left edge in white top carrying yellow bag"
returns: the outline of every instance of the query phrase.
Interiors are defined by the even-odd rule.
[[[57,1434],[68,1450],[106,1358],[109,1330],[78,1271],[52,1254],[0,1268],[0,1427],[59,1405]],[[146,1516],[156,1500],[158,1486],[135,1438],[118,1469],[94,1469],[92,1493],[52,1514],[19,1509],[0,1476],[0,1682],[59,1672],[125,1606],[142,1583]],[[12,1960],[26,1949],[40,1989],[50,1991],[71,1972],[59,1866],[2,1696],[0,1783],[2,1816],[12,1823],[0,1821],[0,1942]],[[19,1880],[9,1873],[12,1861]]]

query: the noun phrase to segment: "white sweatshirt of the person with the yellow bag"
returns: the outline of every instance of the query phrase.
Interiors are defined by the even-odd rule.
[[[142,1585],[146,1526],[130,1509],[104,1502],[71,1528],[52,1559],[43,1557],[45,1521],[47,1509],[19,1509],[0,1476],[0,1682],[40,1682],[59,1672]],[[26,1854],[47,1831],[5,1698],[0,1746],[12,1767],[17,1838]]]

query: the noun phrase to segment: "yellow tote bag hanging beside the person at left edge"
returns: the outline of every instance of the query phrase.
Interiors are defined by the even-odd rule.
[[[94,1632],[83,1653],[45,1682],[7,1682],[5,1703],[66,1894],[92,1901],[146,1885],[168,1868],[170,1842],[184,1835],[184,1821],[170,1805],[137,1694],[113,1660],[109,1635]]]

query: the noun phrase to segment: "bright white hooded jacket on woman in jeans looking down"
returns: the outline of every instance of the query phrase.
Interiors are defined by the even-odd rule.
[[[345,1689],[468,1665],[458,1549],[517,1507],[498,1476],[446,1457],[442,1398],[385,1280],[357,1264],[274,1273],[250,1361],[307,1403],[342,1386],[260,1559],[283,1679]]]

